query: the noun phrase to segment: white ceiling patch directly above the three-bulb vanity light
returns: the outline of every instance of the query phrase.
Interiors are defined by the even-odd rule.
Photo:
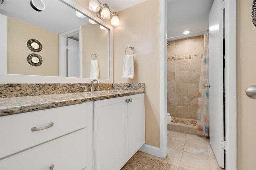
[[[110,11],[119,12],[126,8],[130,8],[131,6],[140,4],[146,0],[99,0],[100,3],[108,4]]]

